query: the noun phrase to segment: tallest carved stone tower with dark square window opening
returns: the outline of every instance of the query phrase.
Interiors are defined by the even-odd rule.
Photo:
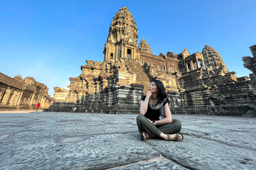
[[[138,27],[131,12],[123,6],[114,16],[109,27],[107,42],[103,50],[104,61],[120,58],[137,58]]]

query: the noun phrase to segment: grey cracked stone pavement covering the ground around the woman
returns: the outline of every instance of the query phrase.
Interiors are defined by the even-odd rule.
[[[173,115],[184,140],[140,140],[137,115],[0,111],[0,169],[256,169],[256,118]]]

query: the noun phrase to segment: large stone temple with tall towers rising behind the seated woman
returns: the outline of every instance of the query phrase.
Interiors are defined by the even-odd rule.
[[[87,60],[70,86],[55,87],[55,103],[45,111],[139,114],[141,96],[157,79],[166,87],[173,114],[255,115],[252,81],[237,78],[212,47],[154,55],[145,39],[137,45],[138,27],[123,6],[111,21],[104,61]]]

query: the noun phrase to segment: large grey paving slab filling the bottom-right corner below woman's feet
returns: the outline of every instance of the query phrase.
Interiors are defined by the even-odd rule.
[[[186,135],[183,142],[153,140],[152,145],[165,157],[189,169],[254,169],[256,165],[254,150]]]

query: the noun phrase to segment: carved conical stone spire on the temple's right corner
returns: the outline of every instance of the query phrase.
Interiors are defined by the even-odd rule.
[[[205,45],[203,48],[203,56],[204,56],[204,64],[205,67],[213,70],[213,69],[221,69],[224,73],[228,73],[228,68],[223,62],[219,53],[213,49],[212,47]]]

